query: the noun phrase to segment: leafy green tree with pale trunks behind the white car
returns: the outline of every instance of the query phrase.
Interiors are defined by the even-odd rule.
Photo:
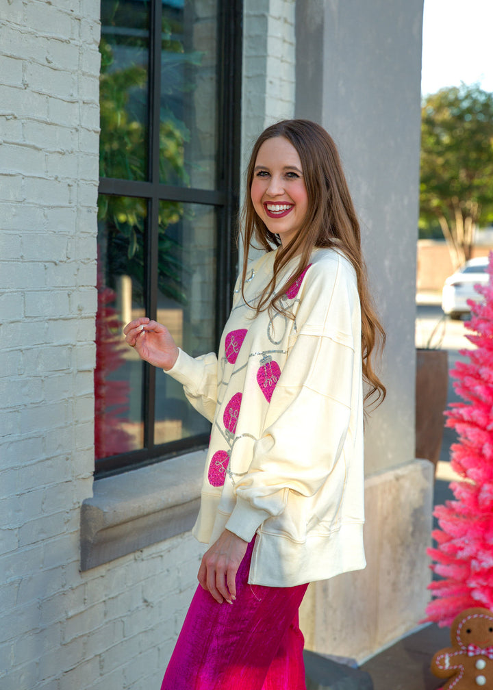
[[[474,228],[493,217],[493,93],[444,88],[421,108],[420,226],[438,224],[456,263],[470,258]]]

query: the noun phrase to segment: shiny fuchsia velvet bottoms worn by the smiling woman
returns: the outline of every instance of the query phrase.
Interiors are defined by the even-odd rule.
[[[298,609],[308,585],[248,584],[252,551],[233,604],[197,587],[161,690],[306,690]]]

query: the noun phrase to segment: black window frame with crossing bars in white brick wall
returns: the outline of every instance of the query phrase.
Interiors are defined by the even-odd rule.
[[[231,298],[238,264],[235,228],[238,223],[240,190],[240,115],[242,74],[242,0],[218,0],[218,156],[216,188],[206,190],[170,186],[160,182],[160,97],[162,0],[151,0],[149,48],[148,181],[101,177],[100,195],[138,197],[148,206],[146,244],[146,313],[157,313],[157,239],[160,201],[182,201],[214,206],[217,212],[217,261],[215,304],[215,348],[218,348]],[[156,369],[144,364],[143,404],[144,448],[95,461],[95,477],[101,478],[146,466],[186,451],[202,449],[209,434],[196,435],[166,444],[154,444]],[[158,373],[159,375],[159,373]]]

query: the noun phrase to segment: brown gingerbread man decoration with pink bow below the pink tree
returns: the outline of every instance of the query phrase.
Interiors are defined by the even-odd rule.
[[[493,689],[493,612],[466,609],[450,631],[452,647],[441,649],[432,660],[438,678],[450,678],[442,690]]]

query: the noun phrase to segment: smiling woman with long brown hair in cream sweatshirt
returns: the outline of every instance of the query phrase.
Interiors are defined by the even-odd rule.
[[[124,329],[213,424],[193,533],[210,544],[162,690],[302,690],[307,584],[365,567],[365,399],[385,335],[334,141],[287,120],[256,142],[244,246],[219,355],[193,359],[147,318]],[[220,604],[231,604],[224,606]]]

